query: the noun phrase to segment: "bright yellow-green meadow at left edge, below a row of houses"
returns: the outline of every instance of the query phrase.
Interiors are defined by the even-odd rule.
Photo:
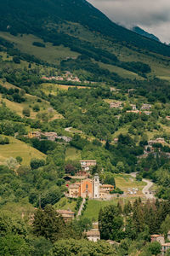
[[[29,165],[31,158],[45,159],[45,154],[32,148],[26,143],[22,143],[14,137],[8,137],[9,144],[0,145],[0,163],[4,164],[5,160],[9,157],[21,156],[23,161],[22,165]]]

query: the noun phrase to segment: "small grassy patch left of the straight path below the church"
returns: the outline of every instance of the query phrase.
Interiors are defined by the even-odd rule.
[[[66,197],[61,198],[55,205],[54,209],[56,210],[68,210],[75,211],[75,207],[77,205],[77,201],[74,199],[68,199]]]

